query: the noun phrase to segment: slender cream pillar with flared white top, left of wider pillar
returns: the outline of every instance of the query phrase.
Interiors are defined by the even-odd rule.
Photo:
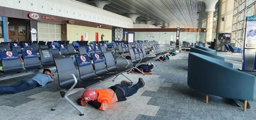
[[[218,0],[200,0],[204,1],[206,5],[206,29],[205,29],[205,40],[212,41],[212,24],[213,24],[213,12],[215,11],[215,5]]]

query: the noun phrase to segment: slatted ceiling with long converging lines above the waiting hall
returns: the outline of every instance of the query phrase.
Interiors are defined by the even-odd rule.
[[[90,0],[76,0],[93,5]],[[105,0],[111,2],[104,10],[123,15],[139,14],[136,23],[152,20],[150,24],[163,24],[169,28],[197,28],[198,12],[205,3],[198,0]],[[94,5],[93,5],[94,6]]]

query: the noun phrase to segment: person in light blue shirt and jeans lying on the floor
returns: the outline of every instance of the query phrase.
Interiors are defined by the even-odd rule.
[[[52,76],[51,70],[44,69],[42,74],[37,74],[35,77],[31,79],[21,80],[9,86],[0,85],[0,94],[18,93],[18,92],[34,89],[37,86],[44,87],[45,84],[49,82],[54,82],[54,81],[55,81],[55,78]]]

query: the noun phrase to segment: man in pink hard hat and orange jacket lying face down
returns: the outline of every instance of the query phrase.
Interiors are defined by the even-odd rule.
[[[85,90],[83,95],[77,99],[77,104],[86,106],[91,104],[97,109],[107,110],[108,105],[119,101],[125,101],[126,97],[135,94],[140,88],[145,86],[142,78],[139,78],[138,83],[132,87],[131,82],[122,81],[121,84],[116,84],[106,89]]]

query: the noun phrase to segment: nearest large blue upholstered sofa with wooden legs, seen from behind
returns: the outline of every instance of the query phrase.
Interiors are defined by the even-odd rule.
[[[200,63],[200,65],[198,65]],[[210,73],[202,75],[198,73]],[[188,55],[188,86],[208,95],[230,99],[254,99],[255,76],[233,69],[233,64],[213,57],[190,52]]]

